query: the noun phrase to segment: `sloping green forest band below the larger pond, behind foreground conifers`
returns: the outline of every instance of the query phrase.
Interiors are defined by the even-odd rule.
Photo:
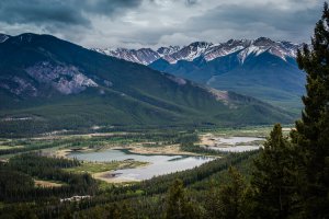
[[[208,184],[198,185],[197,191],[192,188],[193,185],[213,178],[218,173],[225,173],[230,165],[240,165],[242,162],[252,159],[257,153],[257,151],[236,153],[211,161],[192,170],[157,176],[129,186],[113,186],[91,200],[81,201],[79,210],[73,210],[75,212],[71,214],[75,216],[79,215],[79,217],[83,215],[102,215],[104,217],[100,218],[105,218],[106,215],[111,215],[109,209],[116,206],[116,211],[122,217],[125,217],[125,211],[122,210],[128,208],[134,216],[131,218],[159,218],[164,209],[166,193],[177,178],[181,178],[182,184],[189,187],[190,199],[193,199],[194,203],[204,201]],[[122,209],[121,206],[126,207]]]

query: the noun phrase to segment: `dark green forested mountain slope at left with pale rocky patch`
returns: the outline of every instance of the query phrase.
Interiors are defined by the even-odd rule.
[[[50,35],[0,44],[0,134],[94,126],[256,125],[291,114]]]

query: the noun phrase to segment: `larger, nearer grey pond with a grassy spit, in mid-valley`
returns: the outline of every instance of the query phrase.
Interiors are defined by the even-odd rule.
[[[109,149],[98,152],[72,152],[68,157],[77,158],[86,161],[123,161],[133,159],[136,161],[149,162],[149,165],[116,170],[112,173],[116,174],[117,180],[123,181],[140,181],[148,180],[152,176],[173,173],[177,171],[184,171],[193,169],[205,162],[213,160],[206,157],[188,157],[188,155],[145,155],[131,153],[127,150]]]

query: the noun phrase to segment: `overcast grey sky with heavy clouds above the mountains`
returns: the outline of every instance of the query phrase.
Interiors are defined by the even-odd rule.
[[[152,47],[266,36],[308,43],[318,0],[0,0],[0,32],[86,47]]]

